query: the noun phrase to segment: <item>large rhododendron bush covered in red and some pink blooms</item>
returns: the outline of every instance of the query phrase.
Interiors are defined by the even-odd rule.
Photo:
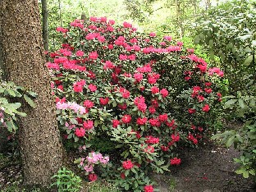
[[[159,41],[114,23],[91,17],[57,28],[62,48],[47,63],[57,120],[89,181],[103,176],[123,190],[153,191],[149,173],[181,164],[174,149],[208,132],[223,73],[169,36]]]

